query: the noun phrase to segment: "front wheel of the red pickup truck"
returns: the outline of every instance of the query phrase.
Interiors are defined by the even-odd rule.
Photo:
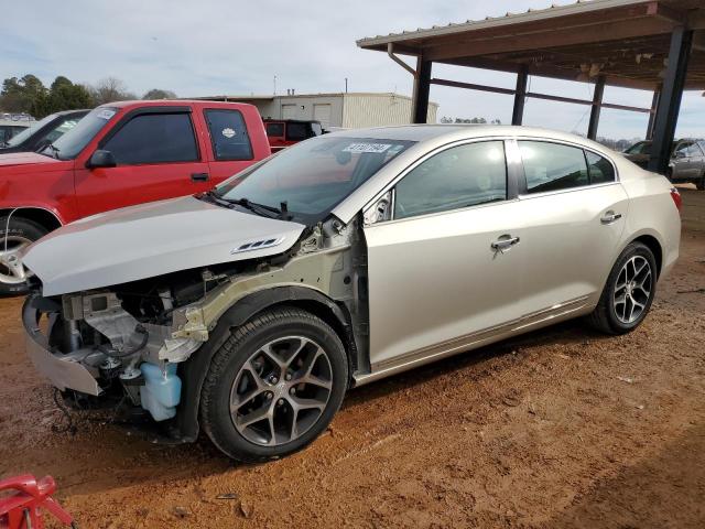
[[[39,224],[21,217],[0,218],[0,296],[26,293],[26,276],[18,252],[47,234]]]

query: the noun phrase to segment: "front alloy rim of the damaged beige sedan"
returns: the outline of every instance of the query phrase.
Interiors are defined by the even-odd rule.
[[[230,417],[251,443],[289,443],[316,423],[332,388],[330,359],[321,345],[303,336],[276,338],[252,354],[237,374]]]

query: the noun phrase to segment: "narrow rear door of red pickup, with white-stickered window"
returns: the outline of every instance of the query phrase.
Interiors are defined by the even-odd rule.
[[[254,160],[254,152],[246,119],[240,110],[206,108],[203,115],[212,150],[206,187],[212,187],[250,166]]]

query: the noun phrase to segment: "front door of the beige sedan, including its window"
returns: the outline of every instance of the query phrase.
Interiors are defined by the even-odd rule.
[[[507,169],[502,140],[444,148],[395,184],[393,218],[365,228],[372,370],[463,347],[522,314]]]

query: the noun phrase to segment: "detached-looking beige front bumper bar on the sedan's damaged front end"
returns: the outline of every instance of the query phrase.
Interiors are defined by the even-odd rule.
[[[34,306],[34,296],[29,296],[22,307],[26,353],[36,370],[50,379],[52,385],[62,391],[74,389],[82,393],[100,395],[97,380],[83,365],[72,359],[64,359],[52,353],[48,338],[39,325],[40,311]]]

